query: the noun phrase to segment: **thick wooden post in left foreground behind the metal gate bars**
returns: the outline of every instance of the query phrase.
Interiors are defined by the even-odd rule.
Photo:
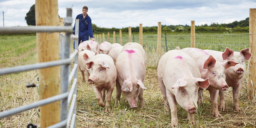
[[[58,26],[58,0],[36,0],[36,26]],[[60,60],[59,32],[36,33],[37,60]],[[60,66],[38,69],[40,100],[60,94]],[[40,107],[41,128],[60,122],[60,101]]]

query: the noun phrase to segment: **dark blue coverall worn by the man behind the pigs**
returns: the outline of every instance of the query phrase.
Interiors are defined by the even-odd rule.
[[[76,16],[76,19],[79,19],[79,35],[78,38],[81,40],[89,40],[90,38],[93,38],[93,33],[92,33],[92,20],[86,15],[85,18],[83,18],[83,14],[79,14]],[[76,23],[75,23],[76,26]],[[75,26],[73,28],[73,34],[75,34]]]

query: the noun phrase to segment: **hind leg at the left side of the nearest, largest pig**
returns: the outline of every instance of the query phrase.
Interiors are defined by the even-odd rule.
[[[166,97],[166,89],[165,89],[165,86],[164,86],[164,82],[163,82],[163,78],[158,78],[158,83],[159,83],[159,87],[160,87],[160,90],[163,94],[163,98],[164,98],[164,109],[165,109],[165,113],[164,115],[167,115],[169,112],[170,112],[170,106],[169,106],[169,103],[168,103],[168,100],[167,100],[167,97]]]

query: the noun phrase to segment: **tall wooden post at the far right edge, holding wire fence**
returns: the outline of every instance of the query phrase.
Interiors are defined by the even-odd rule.
[[[250,8],[249,12],[249,33],[250,33],[250,53],[252,53],[252,57],[248,61],[249,65],[249,99],[252,100],[255,94],[256,82],[255,82],[255,75],[256,75],[256,9]]]

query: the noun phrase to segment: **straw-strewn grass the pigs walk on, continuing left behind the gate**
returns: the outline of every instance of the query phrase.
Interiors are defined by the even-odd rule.
[[[5,45],[0,46],[0,68],[37,62],[35,36],[5,36],[0,36],[1,44],[6,43]],[[146,38],[144,39],[146,40]],[[153,39],[148,40],[150,41]],[[19,41],[21,41],[21,43],[18,43]],[[11,44],[8,45],[8,42],[16,42],[20,47],[13,47]],[[9,50],[2,51],[2,49],[5,48]],[[27,52],[23,52],[26,50],[21,49],[28,50]],[[81,81],[82,76],[78,71],[76,127],[171,127],[171,114],[164,115],[164,101],[162,93],[158,87],[157,63],[162,55],[156,54],[156,47],[153,46],[153,44],[152,46],[145,45],[144,49],[147,54],[147,70],[145,76],[145,87],[147,87],[147,90],[143,93],[145,107],[135,109],[129,108],[129,104],[125,101],[125,98],[122,95],[118,107],[113,108],[116,96],[116,90],[114,89],[110,104],[111,111],[105,113],[105,108],[99,107],[97,103],[92,86]],[[18,53],[16,54],[16,52]],[[162,54],[164,53],[165,49],[163,48]],[[38,84],[37,77],[35,77],[37,73],[37,70],[32,70],[0,76],[0,111],[23,106],[39,100],[36,88],[25,87],[28,83]],[[241,111],[236,112],[233,109],[232,89],[230,88],[226,91],[225,111],[220,111],[220,114],[222,115],[220,118],[214,118],[212,116],[212,103],[209,92],[204,92],[204,103],[202,103],[201,106],[198,106],[198,111],[195,114],[195,125],[188,125],[188,113],[179,105],[177,106],[179,127],[255,127],[256,101],[255,99],[248,100],[247,85],[245,82],[241,88],[241,92],[243,93],[240,93],[239,96],[239,107]],[[29,123],[40,125],[40,112],[38,109],[39,108],[34,108],[13,116],[2,118],[0,119],[0,127],[26,127]]]

